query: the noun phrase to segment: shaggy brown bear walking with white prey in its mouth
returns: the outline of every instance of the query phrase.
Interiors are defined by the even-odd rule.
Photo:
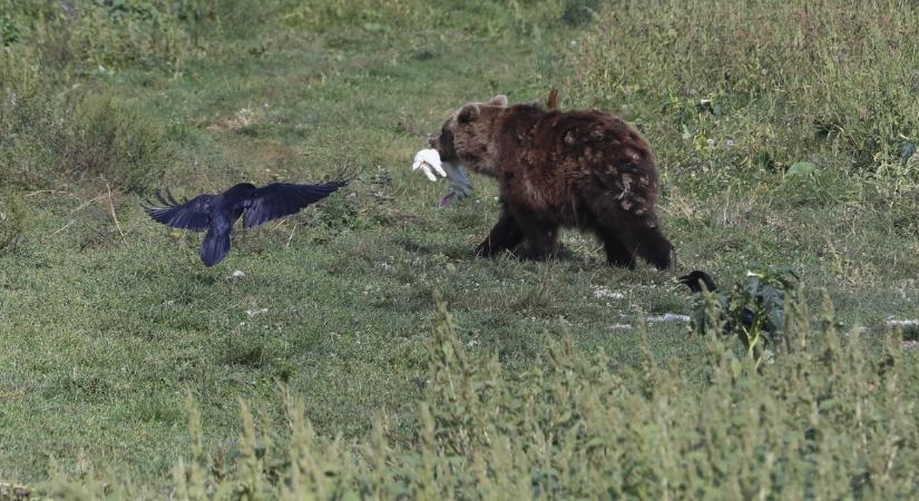
[[[526,240],[529,257],[545,258],[556,249],[558,228],[575,227],[603,240],[613,266],[633,268],[636,255],[658,269],[671,266],[673,246],[654,212],[651,148],[613,115],[508,106],[497,96],[463,106],[430,144],[443,161],[498,179],[501,216],[476,255]]]

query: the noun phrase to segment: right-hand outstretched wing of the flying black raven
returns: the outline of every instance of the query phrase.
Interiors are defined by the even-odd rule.
[[[322,185],[272,183],[263,186],[256,189],[245,204],[246,227],[296,214],[303,207],[327,197],[346,184],[348,180],[340,179]]]

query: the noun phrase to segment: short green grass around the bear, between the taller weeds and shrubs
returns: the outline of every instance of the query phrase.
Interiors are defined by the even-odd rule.
[[[27,238],[0,257],[0,478],[40,480],[57,462],[72,473],[117,464],[158,483],[186,449],[185,387],[218,456],[234,449],[238,397],[280,416],[278,380],[322,434],[362,435],[380,413],[403,421],[423,375],[433,288],[479,356],[525,365],[547,336],[567,332],[583,350],[637,363],[634,330],[617,325],[634,324],[637,311],[687,313],[669,274],[605,268],[598,245],[575,234],[566,235],[573,261],[473,261],[496,217],[495,187],[476,178],[475,199],[437,210],[446,186],[408,168],[466,100],[536,101],[564,82],[571,36],[272,30],[253,35],[263,55],[250,52],[256,41],[237,41],[178,79],[95,79],[99,92],[179,129],[164,179],[177,193],[345,167],[362,181],[322,208],[238,232],[213,269],[197,259],[198,235],[150,223],[131,195],[113,198],[123,238],[108,198],[97,198],[104,185],[30,194]],[[243,108],[251,124],[228,128]],[[917,244],[887,212],[815,200],[768,176],[713,187],[666,164],[662,171],[681,264],[725,277],[751,262],[791,264],[830,289],[845,321],[915,315],[916,283],[903,277],[916,276]],[[235,269],[245,277],[232,278]],[[598,298],[596,286],[624,298]],[[657,324],[651,336],[661,357],[688,371],[702,347],[684,330]]]

